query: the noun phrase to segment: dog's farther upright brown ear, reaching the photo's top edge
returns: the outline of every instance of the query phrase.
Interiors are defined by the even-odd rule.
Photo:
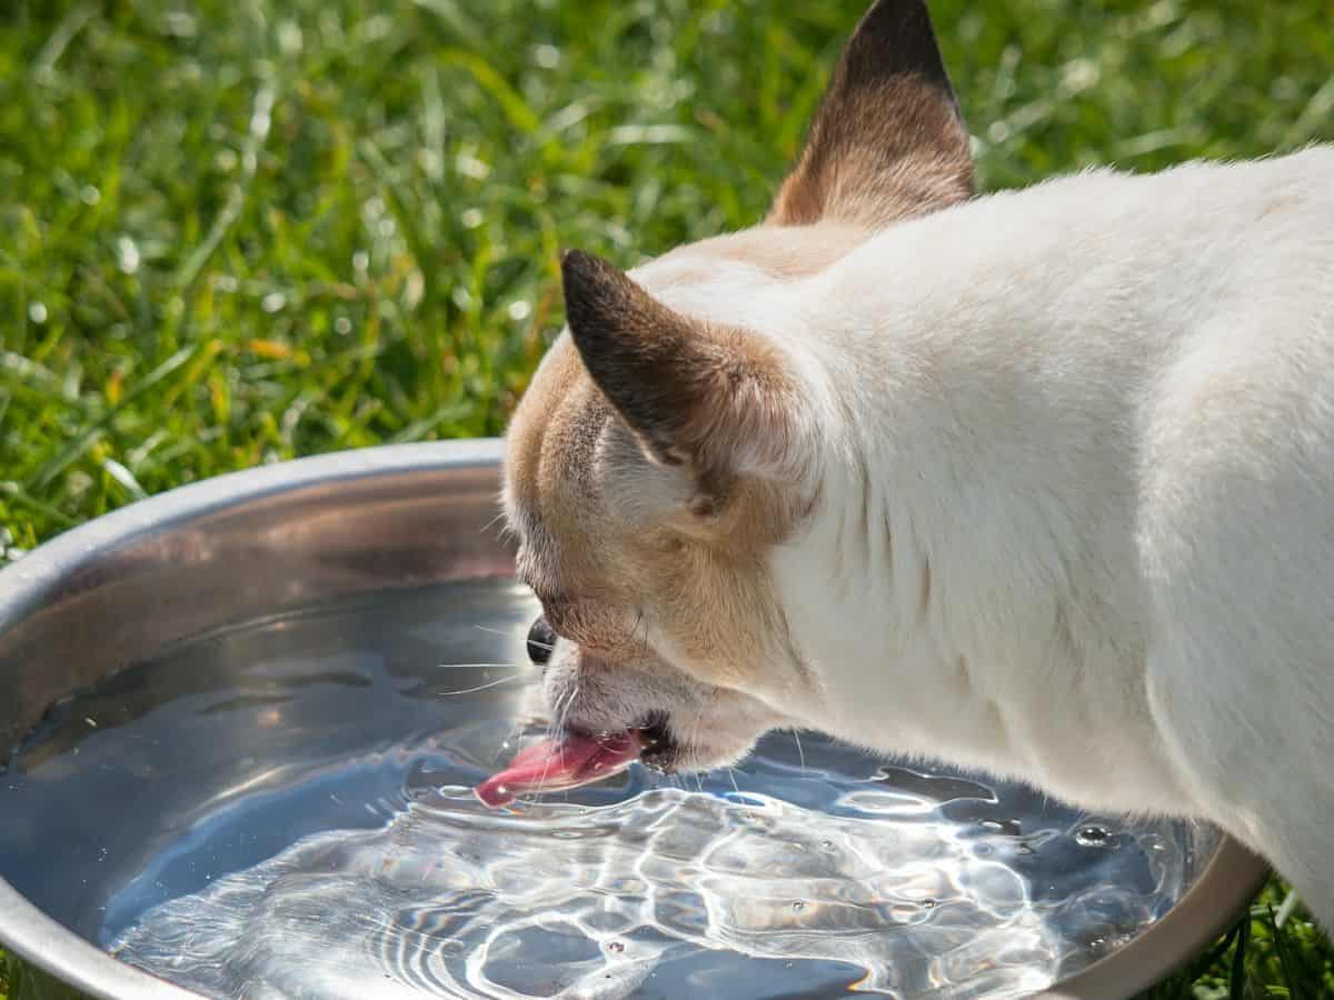
[[[968,132],[924,0],[878,0],[856,25],[768,221],[879,229],[972,195]]]

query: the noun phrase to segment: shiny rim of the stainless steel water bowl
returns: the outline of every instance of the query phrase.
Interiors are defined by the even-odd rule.
[[[60,580],[120,541],[172,521],[311,485],[411,472],[499,468],[502,439],[482,437],[331,452],[177,487],[71,528],[0,569],[0,633],[43,607]],[[1125,1000],[1162,980],[1222,933],[1269,875],[1259,857],[1222,835],[1187,893],[1126,947],[1038,993],[1049,1000]],[[199,995],[123,963],[29,903],[0,879],[0,944],[99,1000],[197,1000]]]

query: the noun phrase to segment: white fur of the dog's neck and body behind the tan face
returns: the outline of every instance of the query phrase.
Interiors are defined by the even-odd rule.
[[[796,283],[646,268],[816,400],[823,500],[771,571],[820,691],[775,707],[1207,817],[1334,925],[1331,180],[1329,147],[1094,172]]]

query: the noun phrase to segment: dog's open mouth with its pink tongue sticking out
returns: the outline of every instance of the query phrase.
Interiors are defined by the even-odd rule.
[[[636,760],[655,771],[671,772],[679,752],[667,716],[654,713],[644,725],[619,733],[567,731],[555,740],[535,743],[474,791],[483,804],[498,808],[528,792],[559,792],[600,781]]]

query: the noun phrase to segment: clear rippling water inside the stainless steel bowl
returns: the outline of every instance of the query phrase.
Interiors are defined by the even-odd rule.
[[[536,727],[530,599],[456,584],[249,623],[53,707],[0,875],[207,996],[1023,996],[1191,884],[1207,827],[774,733],[492,812]]]

